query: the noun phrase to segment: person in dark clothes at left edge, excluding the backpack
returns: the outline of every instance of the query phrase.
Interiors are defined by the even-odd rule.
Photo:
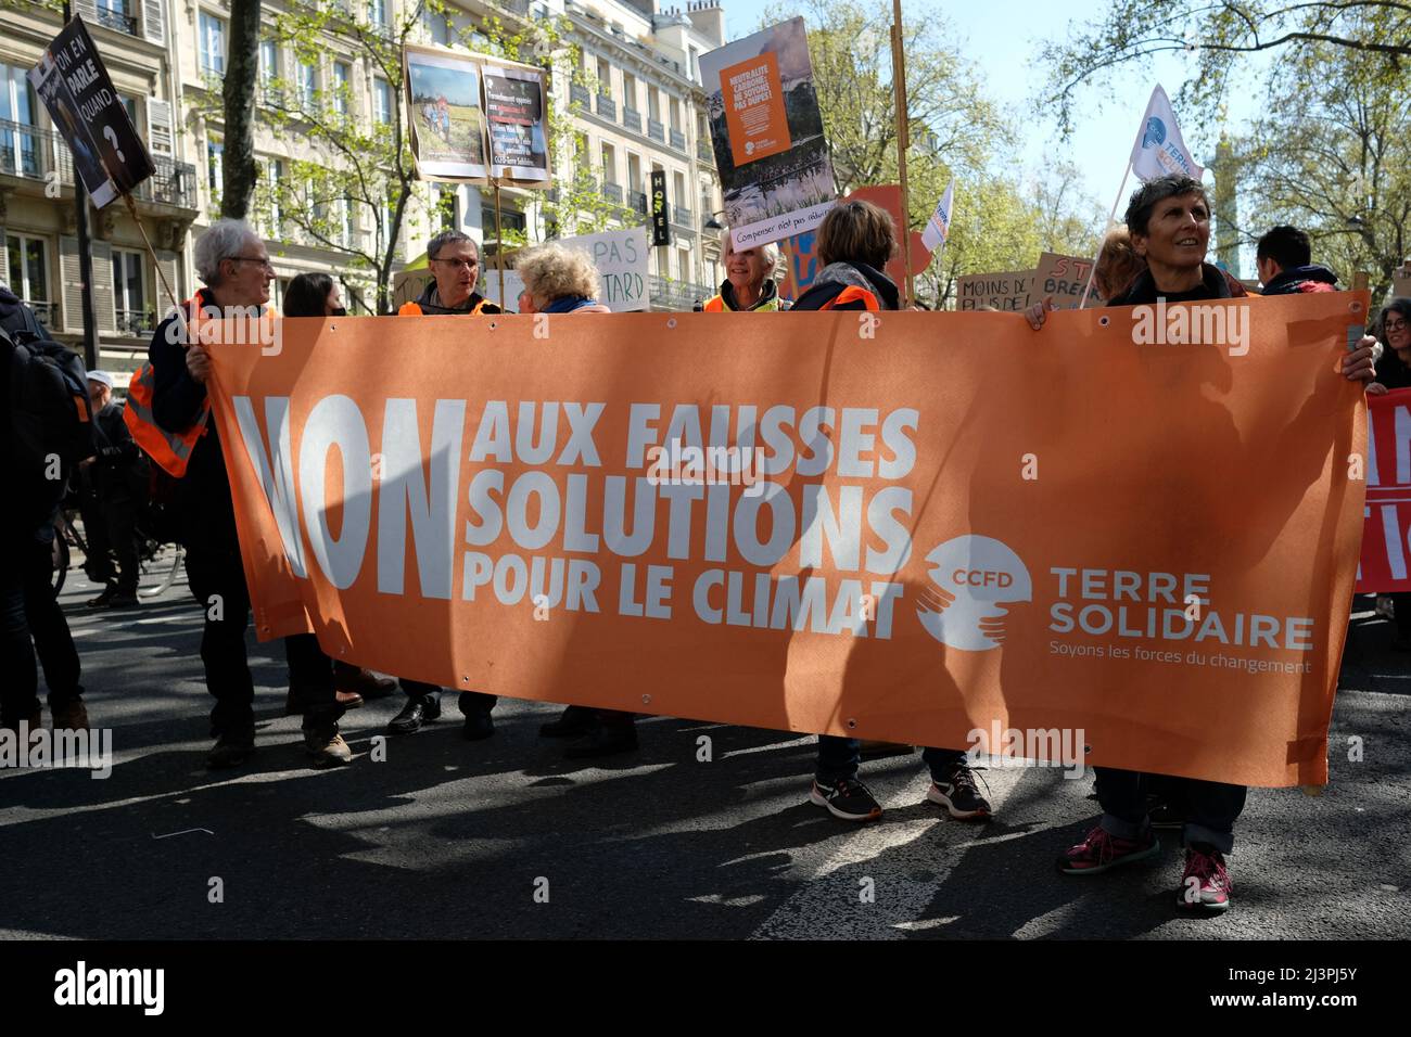
[[[44,329],[34,310],[0,285],[0,327],[14,339],[41,336]],[[0,340],[0,401],[10,399],[13,343]],[[14,439],[8,413],[0,415],[0,464],[10,492],[24,492],[16,478]],[[49,689],[49,712],[55,729],[85,729],[89,725],[79,683],[80,663],[68,619],[54,597],[54,521],[40,525],[21,518],[32,509],[25,502],[7,502],[0,508],[0,728],[17,731],[21,721],[30,729],[42,722],[40,710],[40,670]],[[13,507],[18,504],[20,507]],[[37,505],[38,507],[38,505]]]

